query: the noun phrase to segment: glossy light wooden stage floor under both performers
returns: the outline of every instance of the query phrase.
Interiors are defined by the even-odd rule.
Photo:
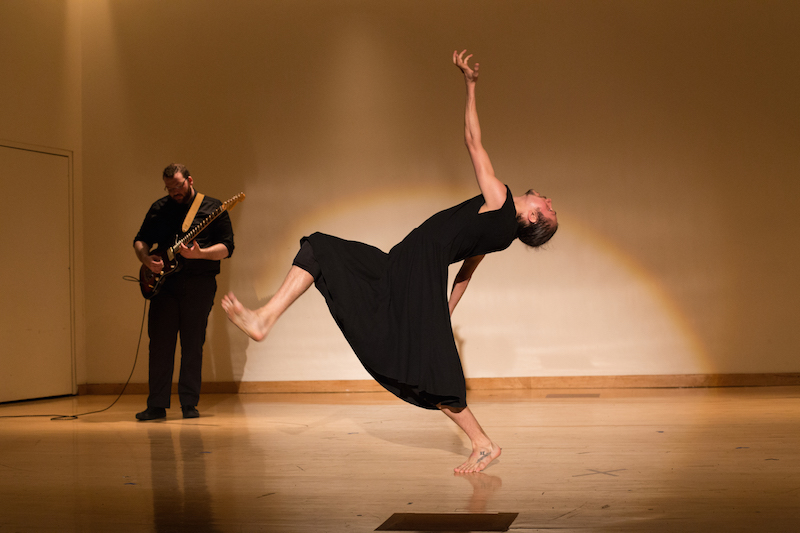
[[[113,400],[0,405],[0,532],[366,532],[395,513],[800,531],[800,387],[473,392],[503,455],[461,476],[457,428],[385,393],[206,394],[194,420],[173,398],[156,422],[126,395],[77,420],[5,418]]]

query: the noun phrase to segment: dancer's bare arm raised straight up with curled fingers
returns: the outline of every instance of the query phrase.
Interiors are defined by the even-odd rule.
[[[486,201],[485,210],[494,211],[500,209],[506,201],[506,187],[494,175],[492,162],[489,154],[483,148],[481,142],[481,126],[478,122],[478,108],[475,103],[475,85],[478,81],[479,64],[474,67],[469,66],[472,54],[467,55],[466,50],[453,52],[453,63],[464,73],[464,82],[467,86],[467,102],[464,110],[464,143],[469,150],[469,157],[475,169],[475,177],[478,180],[478,187]]]

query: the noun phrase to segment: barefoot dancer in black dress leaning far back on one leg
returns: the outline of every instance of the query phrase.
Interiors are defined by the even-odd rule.
[[[500,455],[467,407],[461,361],[450,315],[484,255],[519,238],[541,246],[558,227],[549,198],[530,190],[514,197],[494,175],[481,144],[475,105],[478,64],[453,52],[467,87],[465,142],[481,194],[441,211],[386,254],[323,233],[301,239],[301,249],[275,296],[256,310],[233,294],[222,300],[228,318],[263,340],[278,317],[314,283],[367,371],[399,398],[440,409],[464,430],[472,454],[456,472],[478,472]],[[450,298],[447,268],[463,261]]]

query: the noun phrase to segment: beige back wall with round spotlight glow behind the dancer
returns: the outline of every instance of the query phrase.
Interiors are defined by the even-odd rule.
[[[0,5],[24,50],[0,47],[22,69],[0,138],[79,152],[85,382],[127,378],[143,302],[122,276],[169,162],[247,193],[218,281],[252,305],[305,233],[388,249],[476,194],[455,47],[482,63],[499,177],[561,220],[478,271],[454,317],[469,376],[800,371],[800,4]],[[209,381],[366,377],[313,291],[262,344],[215,308],[206,353]]]

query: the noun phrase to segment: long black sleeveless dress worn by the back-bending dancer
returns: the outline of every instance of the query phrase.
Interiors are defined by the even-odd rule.
[[[466,385],[448,309],[447,267],[508,248],[516,209],[478,213],[483,196],[441,211],[386,254],[324,233],[304,237],[317,289],[361,363],[383,387],[423,407],[466,407]]]

